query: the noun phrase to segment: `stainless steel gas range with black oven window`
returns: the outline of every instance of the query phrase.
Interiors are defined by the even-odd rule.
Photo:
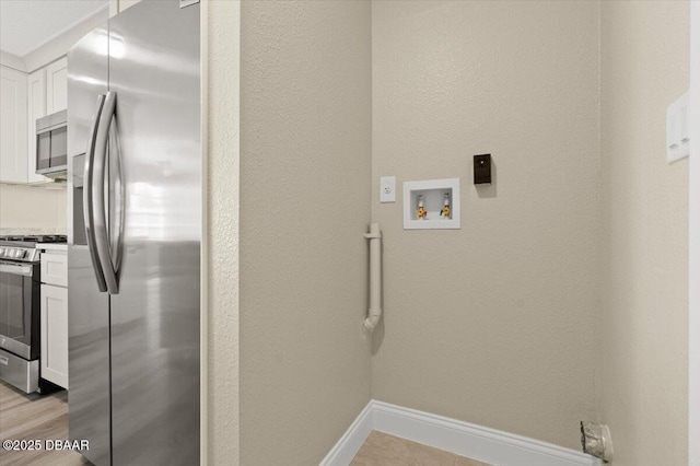
[[[66,243],[66,236],[0,236],[0,378],[26,393],[39,384],[37,243]]]

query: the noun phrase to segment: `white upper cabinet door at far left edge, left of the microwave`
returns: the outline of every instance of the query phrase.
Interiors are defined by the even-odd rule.
[[[26,74],[0,67],[0,183],[26,183]]]

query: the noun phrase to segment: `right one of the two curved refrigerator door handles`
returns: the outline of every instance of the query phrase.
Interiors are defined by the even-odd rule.
[[[92,191],[94,197],[93,215],[95,222],[95,244],[97,245],[97,257],[107,284],[109,294],[119,293],[117,271],[112,261],[109,247],[109,233],[107,231],[107,214],[105,207],[105,167],[107,165],[107,144],[109,142],[109,128],[114,119],[114,112],[117,103],[117,93],[107,92],[105,104],[100,116],[100,127],[95,142],[94,173],[92,178]]]

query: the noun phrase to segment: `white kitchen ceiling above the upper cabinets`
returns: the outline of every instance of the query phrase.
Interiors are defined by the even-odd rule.
[[[0,50],[23,57],[108,0],[0,0]]]

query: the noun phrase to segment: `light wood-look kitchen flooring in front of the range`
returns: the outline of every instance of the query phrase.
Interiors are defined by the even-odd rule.
[[[68,440],[68,393],[26,395],[0,382],[0,441]],[[2,466],[73,466],[91,464],[71,451],[7,451],[0,444]]]

